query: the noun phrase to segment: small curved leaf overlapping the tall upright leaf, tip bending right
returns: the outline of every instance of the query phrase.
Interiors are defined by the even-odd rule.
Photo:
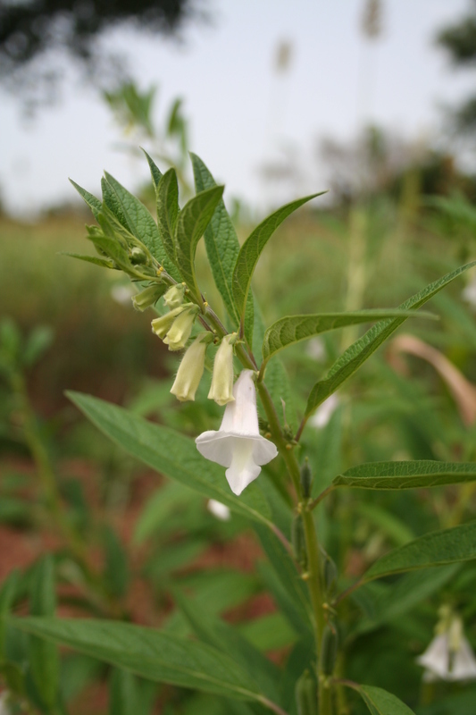
[[[210,223],[214,210],[220,203],[223,195],[222,186],[213,186],[190,198],[188,203],[182,208],[179,214],[176,228],[176,251],[177,265],[180,273],[188,284],[190,290],[194,290],[196,298],[200,298],[200,290],[196,284],[195,275],[195,254],[198,241],[204,235],[207,225]]]

